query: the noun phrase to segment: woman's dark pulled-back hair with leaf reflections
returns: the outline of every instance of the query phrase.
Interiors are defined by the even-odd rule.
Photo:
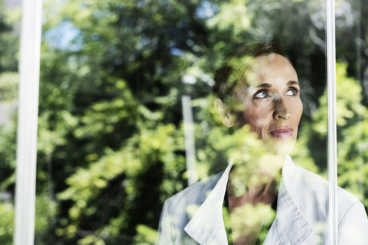
[[[291,64],[286,50],[273,43],[249,43],[231,51],[215,71],[215,85],[212,88],[215,96],[225,103],[229,102],[237,86],[247,82],[244,74],[250,62],[256,57],[269,54],[282,55]]]

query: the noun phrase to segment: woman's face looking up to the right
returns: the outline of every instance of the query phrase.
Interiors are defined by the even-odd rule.
[[[245,79],[235,92],[236,123],[250,125],[270,154],[289,154],[303,110],[295,69],[282,55],[263,55],[251,62]]]

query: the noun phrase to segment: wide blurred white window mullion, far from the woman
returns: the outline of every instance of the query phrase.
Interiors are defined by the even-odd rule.
[[[22,2],[13,244],[33,245],[42,0]]]

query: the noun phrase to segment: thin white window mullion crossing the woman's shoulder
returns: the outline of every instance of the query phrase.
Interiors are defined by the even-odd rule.
[[[330,245],[337,245],[337,144],[336,144],[336,52],[335,1],[326,0],[327,91],[328,91],[328,174]]]

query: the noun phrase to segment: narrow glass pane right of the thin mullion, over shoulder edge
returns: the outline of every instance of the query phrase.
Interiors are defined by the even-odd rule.
[[[339,240],[356,244],[368,241],[365,11],[364,1],[336,2],[337,184],[353,194],[338,192]]]

